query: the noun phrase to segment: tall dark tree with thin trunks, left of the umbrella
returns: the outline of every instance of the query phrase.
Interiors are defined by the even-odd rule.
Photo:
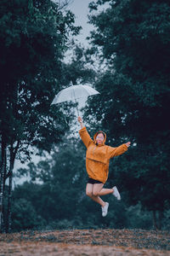
[[[61,61],[69,33],[77,34],[74,15],[65,15],[57,3],[1,1],[1,185],[0,230],[3,221],[3,189],[8,178],[8,217],[16,155],[30,157],[29,146],[50,150],[68,129],[60,108],[50,108],[60,89]],[[62,125],[59,125],[62,124]],[[8,153],[9,152],[9,153]],[[22,155],[20,155],[22,154]],[[8,220],[8,230],[10,221]]]

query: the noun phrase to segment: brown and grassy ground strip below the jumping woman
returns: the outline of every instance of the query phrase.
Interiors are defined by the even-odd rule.
[[[0,236],[4,255],[169,256],[170,232],[149,230],[23,231]]]

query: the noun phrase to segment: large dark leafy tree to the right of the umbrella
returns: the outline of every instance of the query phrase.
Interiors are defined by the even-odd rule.
[[[97,119],[98,125],[94,121],[94,127],[102,127],[109,142],[121,143],[128,138],[137,144],[138,154],[132,154],[132,159],[140,158],[134,160],[139,164],[129,164],[128,172],[133,171],[133,175],[125,179],[129,198],[133,202],[131,192],[138,191],[135,198],[143,207],[163,212],[169,207],[170,195],[167,185],[170,133],[165,121],[170,79],[170,4],[154,0],[94,1],[90,4],[91,11],[103,3],[109,7],[90,17],[96,27],[90,39],[95,52],[98,49],[100,58],[106,62],[107,70],[95,83],[101,96],[89,101],[86,116],[91,117],[90,123]],[[127,175],[126,161],[122,165],[122,172]]]

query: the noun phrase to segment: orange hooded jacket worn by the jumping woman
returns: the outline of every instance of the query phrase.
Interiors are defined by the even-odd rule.
[[[105,145],[106,134],[104,131],[100,132],[105,135],[104,142],[100,145],[96,143],[96,137],[99,131],[95,133],[94,140],[89,136],[86,127],[83,127],[79,131],[79,134],[82,138],[82,142],[87,148],[86,169],[88,176],[105,183],[109,174],[110,159],[127,151],[127,145],[122,144],[117,148],[107,146]]]

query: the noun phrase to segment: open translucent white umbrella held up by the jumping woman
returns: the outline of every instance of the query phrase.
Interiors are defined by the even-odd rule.
[[[73,85],[71,82],[70,87],[59,91],[59,93],[54,97],[54,100],[51,103],[51,105],[67,101],[75,101],[77,103],[77,99],[92,96],[95,94],[99,94],[99,91],[94,90],[94,88],[88,85]],[[78,108],[77,113],[79,115]]]

